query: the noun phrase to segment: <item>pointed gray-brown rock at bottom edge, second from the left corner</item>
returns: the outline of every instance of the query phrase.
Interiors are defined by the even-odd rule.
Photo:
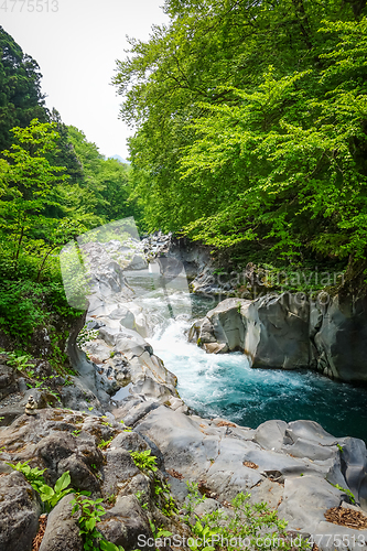
[[[40,551],[83,551],[84,545],[77,523],[78,515],[72,516],[74,497],[74,494],[63,497],[50,512]]]

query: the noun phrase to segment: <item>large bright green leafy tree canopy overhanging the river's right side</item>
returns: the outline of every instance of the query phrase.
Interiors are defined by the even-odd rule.
[[[367,245],[365,3],[168,0],[114,83],[149,229],[284,263]]]

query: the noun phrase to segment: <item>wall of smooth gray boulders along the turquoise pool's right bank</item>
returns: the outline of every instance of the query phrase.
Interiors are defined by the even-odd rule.
[[[226,299],[196,322],[190,339],[208,353],[241,350],[252,367],[317,369],[345,381],[367,381],[367,301],[302,294]]]

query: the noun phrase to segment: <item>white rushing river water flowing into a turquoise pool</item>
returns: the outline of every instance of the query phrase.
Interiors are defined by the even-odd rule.
[[[335,436],[367,442],[367,388],[336,382],[311,370],[252,369],[240,353],[212,355],[187,342],[193,320],[214,307],[211,300],[185,290],[170,294],[134,273],[137,302],[149,312],[153,336],[148,342],[177,376],[177,390],[201,415],[225,417],[257,428],[269,419],[317,421]]]

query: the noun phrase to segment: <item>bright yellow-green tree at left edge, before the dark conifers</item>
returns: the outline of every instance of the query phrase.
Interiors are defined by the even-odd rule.
[[[57,205],[55,190],[67,176],[65,169],[50,164],[46,155],[56,147],[58,133],[54,123],[33,119],[29,127],[12,129],[15,138],[7,161],[0,165],[0,231],[18,272],[22,250],[34,247],[34,240],[48,227],[47,207]]]

